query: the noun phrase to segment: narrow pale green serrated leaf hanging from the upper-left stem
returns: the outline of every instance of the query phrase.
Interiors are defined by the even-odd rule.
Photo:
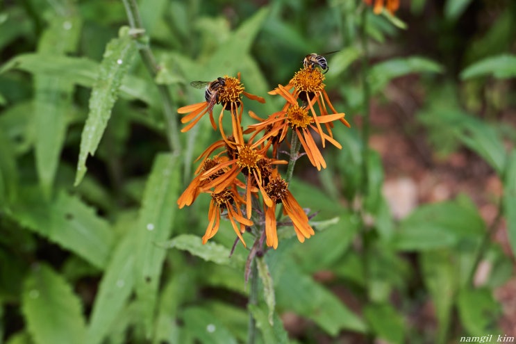
[[[126,27],[120,30],[119,38],[111,40],[106,46],[99,76],[93,85],[90,96],[90,113],[81,136],[81,151],[77,163],[75,185],[81,183],[86,173],[88,154],[94,155],[99,146],[111,116],[111,110],[117,100],[122,79],[127,74],[136,52],[136,44],[128,35]]]

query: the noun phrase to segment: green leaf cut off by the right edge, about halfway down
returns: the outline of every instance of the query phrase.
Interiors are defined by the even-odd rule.
[[[503,181],[503,212],[507,219],[510,247],[516,252],[516,149],[511,152]]]

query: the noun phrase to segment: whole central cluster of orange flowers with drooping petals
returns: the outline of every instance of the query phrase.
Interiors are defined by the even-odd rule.
[[[206,113],[210,115],[213,129],[217,129],[213,105],[222,104],[218,118],[222,139],[206,148],[197,158],[199,167],[195,177],[177,202],[179,208],[183,208],[190,206],[201,193],[211,196],[203,243],[217,233],[220,219],[224,216],[231,222],[244,246],[246,243],[242,234],[249,231],[260,235],[256,228],[260,224],[265,243],[276,249],[278,204],[283,215],[290,218],[290,224],[301,243],[315,234],[308,222],[308,215],[288,190],[288,181],[281,177],[278,167],[288,164],[288,161],[278,158],[278,148],[289,135],[295,136],[317,170],[326,167],[317,142],[320,141],[322,147],[330,142],[341,148],[333,138],[333,122],[340,121],[346,126],[349,123],[344,120],[344,113],[338,113],[331,104],[323,81],[324,74],[318,67],[303,66],[288,85],[278,85],[269,92],[285,99],[283,108],[265,119],[249,111],[251,118],[258,123],[248,126],[245,131],[241,126],[244,108],[241,96],[260,102],[264,99],[244,92],[240,74],[238,78],[224,76],[208,83],[206,101],[178,109],[178,113],[185,114],[181,122],[188,123],[182,131],[190,130]],[[224,110],[231,114],[231,135],[226,135],[223,129]],[[245,139],[244,135],[249,137]],[[291,156],[290,163],[294,163],[299,156]]]

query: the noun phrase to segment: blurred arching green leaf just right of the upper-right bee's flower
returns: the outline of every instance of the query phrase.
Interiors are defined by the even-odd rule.
[[[392,79],[412,73],[442,73],[442,65],[428,58],[410,56],[392,58],[374,65],[369,71],[369,83],[372,90],[378,92]]]

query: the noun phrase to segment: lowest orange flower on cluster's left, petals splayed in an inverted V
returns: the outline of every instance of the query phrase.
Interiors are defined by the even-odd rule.
[[[242,244],[246,246],[242,233],[245,231],[246,226],[252,226],[253,222],[242,216],[240,206],[243,200],[235,191],[234,187],[225,188],[219,193],[211,194],[210,209],[208,211],[208,227],[206,233],[203,236],[203,244],[215,236],[219,230],[220,216],[223,211],[227,211],[227,218],[231,222],[231,226],[235,230],[238,238],[242,241]]]

